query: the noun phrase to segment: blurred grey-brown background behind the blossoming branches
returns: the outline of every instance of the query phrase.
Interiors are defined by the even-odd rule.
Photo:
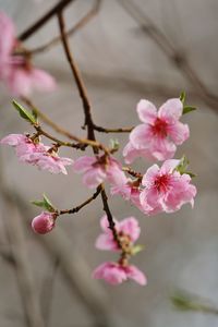
[[[17,26],[17,35],[57,1],[0,0]],[[95,8],[95,0],[77,0],[65,10],[68,28]],[[89,22],[70,38],[97,124],[108,128],[138,123],[136,104],[142,98],[161,105],[187,95],[198,110],[186,114],[191,137],[182,145],[197,174],[195,207],[171,215],[145,217],[120,197],[109,204],[118,219],[140,220],[140,243],[145,250],[133,258],[148,284],[119,287],[93,280],[93,269],[111,253],[94,247],[100,232],[102,205],[97,198],[78,214],[63,216],[52,233],[36,235],[31,229],[38,210],[29,201],[45,192],[58,208],[71,208],[90,195],[81,177],[52,175],[21,165],[13,149],[0,149],[0,326],[1,327],[214,327],[218,316],[177,311],[170,296],[177,289],[209,299],[218,307],[218,1],[217,0],[104,0]],[[3,33],[3,31],[0,31]],[[59,35],[57,19],[25,41],[28,49]],[[85,135],[81,100],[61,44],[36,53],[34,63],[58,82],[52,94],[32,96],[53,121]],[[49,128],[47,128],[49,130]],[[0,86],[0,138],[32,132]],[[105,143],[128,134],[98,134]],[[76,150],[61,150],[76,158]],[[121,159],[121,155],[118,154]],[[137,160],[134,168],[149,166]]]

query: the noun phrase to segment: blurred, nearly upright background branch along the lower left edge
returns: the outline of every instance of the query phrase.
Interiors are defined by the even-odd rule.
[[[2,165],[0,165],[0,191],[4,199],[2,216],[7,218],[3,222],[5,227],[5,234],[8,235],[10,244],[8,251],[11,254],[11,261],[13,262],[13,267],[17,277],[17,283],[24,306],[25,325],[28,327],[44,327],[37,288],[32,271],[33,267],[29,265],[22,214],[14,205],[13,193],[9,193],[4,189],[3,167]]]

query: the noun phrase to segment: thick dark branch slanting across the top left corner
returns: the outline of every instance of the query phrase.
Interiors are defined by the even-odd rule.
[[[24,31],[17,38],[21,41],[29,38],[34,33],[36,33],[44,24],[46,24],[52,16],[57,14],[60,10],[69,5],[72,1],[75,0],[61,0],[53,8],[51,8],[43,17],[36,21],[31,27]]]

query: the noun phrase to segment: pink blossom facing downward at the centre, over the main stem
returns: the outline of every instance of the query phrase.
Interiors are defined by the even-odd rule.
[[[73,168],[75,172],[83,173],[83,183],[88,189],[97,187],[105,180],[116,185],[125,181],[120,164],[112,157],[84,156],[75,160]]]

